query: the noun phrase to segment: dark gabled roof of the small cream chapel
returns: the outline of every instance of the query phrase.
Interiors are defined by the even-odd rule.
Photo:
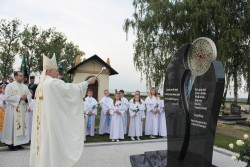
[[[75,73],[75,71],[77,70],[77,68],[79,66],[81,66],[81,65],[83,65],[83,64],[85,64],[85,63],[87,63],[87,62],[89,62],[91,60],[97,60],[97,61],[101,62],[107,69],[109,69],[109,71],[110,71],[109,75],[116,75],[116,74],[118,74],[117,71],[115,71],[109,64],[107,64],[105,61],[103,61],[97,55],[91,56],[90,58],[88,58],[88,59],[82,61],[81,63],[77,64],[75,67],[72,67],[71,69],[68,70],[68,73],[71,73],[71,74]]]

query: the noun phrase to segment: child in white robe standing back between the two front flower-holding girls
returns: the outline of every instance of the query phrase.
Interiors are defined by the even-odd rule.
[[[129,102],[128,102],[128,99],[126,97],[124,97],[124,90],[120,90],[119,94],[120,94],[120,97],[121,97],[121,101],[122,101],[123,105],[125,106],[125,112],[122,115],[122,123],[123,123],[123,128],[124,128],[124,134],[127,134],[127,129],[128,129],[128,114],[127,114],[127,111],[129,109]]]

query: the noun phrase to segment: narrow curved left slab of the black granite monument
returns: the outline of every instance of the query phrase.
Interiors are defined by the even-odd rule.
[[[178,159],[182,153],[186,133],[186,113],[182,99],[181,82],[185,75],[184,56],[190,44],[185,44],[175,53],[167,67],[164,83],[164,103],[168,135],[168,156]]]

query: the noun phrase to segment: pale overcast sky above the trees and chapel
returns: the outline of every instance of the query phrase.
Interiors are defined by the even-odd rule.
[[[124,20],[131,18],[132,0],[1,0],[0,19],[18,18],[23,24],[43,29],[55,27],[85,52],[94,54],[119,73],[110,77],[110,89],[147,91],[145,82],[133,64],[133,32],[122,29]],[[16,64],[20,64],[17,62]],[[240,97],[246,97],[243,91]]]

